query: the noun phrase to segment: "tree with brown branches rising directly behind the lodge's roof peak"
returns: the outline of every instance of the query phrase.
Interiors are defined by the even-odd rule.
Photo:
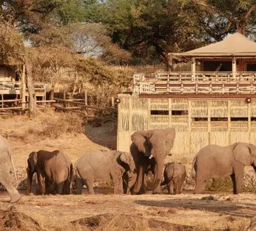
[[[199,16],[199,24],[215,40],[222,40],[227,33],[252,32],[255,24],[255,0],[192,0],[190,4]]]

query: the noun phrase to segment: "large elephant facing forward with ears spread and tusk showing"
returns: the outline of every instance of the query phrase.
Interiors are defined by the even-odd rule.
[[[160,193],[165,157],[171,151],[175,135],[174,128],[137,131],[132,134],[130,152],[137,169],[133,195],[145,193],[144,174],[149,170],[154,173],[154,182],[148,188],[153,193]]]

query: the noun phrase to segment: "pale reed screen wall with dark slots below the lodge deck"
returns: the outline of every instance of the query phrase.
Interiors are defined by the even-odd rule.
[[[119,95],[117,149],[130,150],[134,131],[173,127],[172,154],[194,156],[208,144],[256,143],[256,99],[139,98]]]

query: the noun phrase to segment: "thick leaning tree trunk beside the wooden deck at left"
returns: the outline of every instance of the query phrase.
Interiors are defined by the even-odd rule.
[[[34,82],[30,64],[26,64],[26,84],[29,91],[29,117],[37,114],[37,98],[35,97]]]

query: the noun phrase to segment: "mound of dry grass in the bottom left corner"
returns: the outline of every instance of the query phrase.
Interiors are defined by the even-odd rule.
[[[38,222],[24,213],[15,211],[14,207],[10,210],[0,210],[0,230],[24,230],[41,231]]]

